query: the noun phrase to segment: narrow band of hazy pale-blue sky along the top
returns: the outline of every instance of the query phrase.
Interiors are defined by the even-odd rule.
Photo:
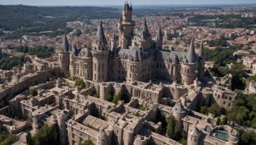
[[[124,0],[0,0],[0,4],[33,6],[120,5],[124,4]],[[256,4],[256,0],[133,0],[132,4]]]

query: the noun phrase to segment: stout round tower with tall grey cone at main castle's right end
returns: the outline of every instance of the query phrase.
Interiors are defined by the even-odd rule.
[[[195,53],[195,45],[194,39],[192,38],[191,44],[189,47],[189,52],[181,64],[181,76],[182,76],[182,83],[186,85],[190,85],[198,76],[198,62],[196,60],[196,53]]]

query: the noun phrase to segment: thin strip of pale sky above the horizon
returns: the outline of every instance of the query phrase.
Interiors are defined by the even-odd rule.
[[[35,0],[1,0],[1,5],[26,5],[26,6],[122,6],[124,5],[124,0],[109,0],[108,3],[104,0],[97,0],[97,1],[83,1],[83,0],[76,0],[76,1],[51,1],[51,0],[45,0],[45,1],[35,1]],[[145,0],[136,0],[136,1],[129,1],[129,3],[132,3],[133,6],[152,6],[152,5],[173,5],[173,6],[184,6],[184,5],[204,5],[204,6],[211,6],[211,5],[243,5],[243,4],[256,4],[255,0],[244,0],[241,2],[240,0],[215,0],[215,1],[203,1],[203,0],[194,0],[191,2],[190,0],[182,0],[182,1],[174,1],[174,0],[161,0],[161,1],[155,1],[155,0],[148,0],[145,2]]]

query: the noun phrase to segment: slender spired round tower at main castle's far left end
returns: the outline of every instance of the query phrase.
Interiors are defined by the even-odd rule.
[[[63,35],[63,43],[59,52],[59,63],[60,63],[60,72],[64,74],[69,72],[69,51],[70,45],[68,44],[68,39],[66,35]]]

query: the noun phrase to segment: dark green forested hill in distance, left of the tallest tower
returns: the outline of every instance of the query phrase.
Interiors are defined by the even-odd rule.
[[[58,22],[76,20],[77,17],[117,18],[120,10],[93,6],[37,7],[23,5],[0,5],[0,29],[15,31],[20,28],[54,25]],[[63,25],[60,25],[60,29]],[[56,27],[52,27],[56,29]],[[51,31],[51,28],[40,31]]]

